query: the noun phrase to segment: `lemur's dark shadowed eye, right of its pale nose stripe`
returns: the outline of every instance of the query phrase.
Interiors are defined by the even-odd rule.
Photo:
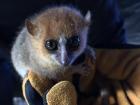
[[[67,40],[67,48],[70,51],[75,51],[79,48],[80,38],[79,36],[73,36]]]

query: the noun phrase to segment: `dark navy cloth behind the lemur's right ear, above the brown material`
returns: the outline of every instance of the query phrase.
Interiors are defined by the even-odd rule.
[[[124,20],[118,0],[86,0],[78,5],[84,13],[92,12],[91,45],[95,47],[126,43]]]

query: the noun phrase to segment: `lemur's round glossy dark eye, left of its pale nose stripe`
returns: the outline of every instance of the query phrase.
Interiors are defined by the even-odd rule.
[[[58,42],[56,40],[47,40],[45,47],[49,50],[49,51],[55,51],[58,49]]]

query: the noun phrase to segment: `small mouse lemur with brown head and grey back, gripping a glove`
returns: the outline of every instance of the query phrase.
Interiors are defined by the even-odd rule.
[[[86,51],[90,12],[83,16],[68,6],[48,8],[26,19],[18,34],[11,55],[16,71],[24,77],[28,70],[49,78],[61,77],[66,71],[75,70],[73,65]],[[70,70],[71,68],[71,70]]]

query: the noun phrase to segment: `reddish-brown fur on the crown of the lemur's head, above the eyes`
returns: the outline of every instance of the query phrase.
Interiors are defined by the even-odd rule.
[[[42,35],[45,38],[58,38],[59,35],[65,34],[66,37],[76,35],[81,32],[82,28],[87,26],[84,17],[77,11],[68,7],[51,8],[43,12],[35,19],[35,24],[41,26]]]

